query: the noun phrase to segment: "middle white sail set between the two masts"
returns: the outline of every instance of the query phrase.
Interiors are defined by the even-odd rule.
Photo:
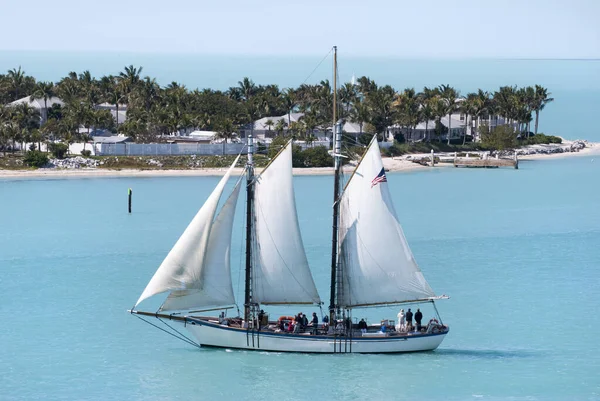
[[[292,184],[292,144],[256,177],[252,299],[262,304],[319,303],[300,235]]]

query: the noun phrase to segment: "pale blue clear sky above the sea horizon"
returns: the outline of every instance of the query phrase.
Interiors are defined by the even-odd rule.
[[[1,50],[600,58],[600,0],[0,0]]]

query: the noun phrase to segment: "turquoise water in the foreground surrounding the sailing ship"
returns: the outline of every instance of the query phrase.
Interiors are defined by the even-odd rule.
[[[0,180],[0,399],[600,399],[599,176],[592,157],[389,174],[425,277],[451,297],[441,347],[399,355],[196,349],[126,313],[218,178]],[[326,298],[332,177],[295,185]]]

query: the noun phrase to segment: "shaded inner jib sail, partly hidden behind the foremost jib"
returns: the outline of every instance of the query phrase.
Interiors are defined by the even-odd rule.
[[[201,279],[188,284],[188,289],[172,291],[161,306],[161,311],[189,310],[235,303],[229,255],[233,218],[241,182],[240,179],[212,225]]]

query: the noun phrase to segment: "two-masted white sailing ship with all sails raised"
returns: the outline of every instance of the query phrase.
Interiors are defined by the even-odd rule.
[[[337,62],[334,47],[334,65]],[[336,71],[336,68],[334,68]],[[334,74],[334,88],[336,87]],[[336,121],[334,89],[334,121]],[[437,348],[449,331],[436,296],[419,269],[398,222],[377,136],[342,185],[341,123],[333,128],[335,160],[331,283],[328,323],[302,327],[293,318],[269,319],[262,308],[314,305],[321,298],[303,246],[292,182],[292,141],[255,174],[254,139],[247,138],[245,173],[219,208],[235,159],[142,295],[134,316],[198,346],[310,353],[392,353]],[[245,180],[244,180],[245,176]],[[242,186],[246,192],[243,314],[235,308],[230,266],[231,236]],[[168,293],[157,312],[136,309],[144,300]],[[431,303],[437,315],[422,327],[407,329],[391,320],[359,327],[359,308]],[[239,310],[239,309],[238,309]],[[221,311],[218,316],[206,312]],[[147,318],[159,319],[167,329]],[[181,331],[183,327],[196,339]],[[420,325],[419,325],[420,326]]]

